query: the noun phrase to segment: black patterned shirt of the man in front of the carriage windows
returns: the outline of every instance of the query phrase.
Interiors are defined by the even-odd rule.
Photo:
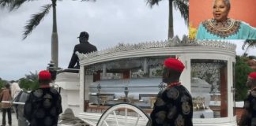
[[[183,85],[161,91],[150,115],[152,126],[192,126],[192,97]]]

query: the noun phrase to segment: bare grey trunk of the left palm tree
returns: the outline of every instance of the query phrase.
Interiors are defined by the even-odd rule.
[[[51,61],[55,63],[55,69],[58,69],[58,33],[56,19],[56,0],[52,0],[53,7],[53,25],[51,34]]]

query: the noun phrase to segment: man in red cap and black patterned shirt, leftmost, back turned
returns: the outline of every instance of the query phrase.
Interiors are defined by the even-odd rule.
[[[30,126],[57,126],[62,113],[62,98],[55,88],[50,87],[51,73],[39,73],[40,88],[31,91],[24,105],[24,117]]]

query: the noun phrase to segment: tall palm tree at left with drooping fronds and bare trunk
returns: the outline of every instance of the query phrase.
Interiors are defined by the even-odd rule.
[[[0,0],[1,7],[8,7],[9,11],[13,9],[18,9],[24,2],[32,2],[36,0]],[[61,1],[61,0],[59,0]],[[81,0],[81,2],[89,0]],[[95,1],[95,0],[94,0]],[[53,9],[53,24],[52,24],[52,34],[51,34],[51,61],[55,63],[55,69],[58,68],[58,33],[57,33],[57,19],[56,19],[56,2],[57,0],[51,0],[51,4],[42,6],[41,12],[33,14],[31,19],[27,21],[27,24],[24,26],[23,31],[23,40],[32,33],[32,30],[40,24],[43,17],[49,13],[51,7]]]

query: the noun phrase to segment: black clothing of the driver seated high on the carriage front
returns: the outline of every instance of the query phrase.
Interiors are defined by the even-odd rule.
[[[88,54],[90,52],[96,51],[97,48],[96,46],[93,46],[92,44],[88,43],[88,42],[83,42],[83,43],[79,43],[76,46],[74,46],[73,48],[73,54],[70,60],[70,65],[68,66],[68,69],[79,69],[80,65],[79,65],[79,59],[77,57],[76,51],[78,51],[79,53],[82,54]],[[76,67],[74,67],[74,65],[76,65]]]

